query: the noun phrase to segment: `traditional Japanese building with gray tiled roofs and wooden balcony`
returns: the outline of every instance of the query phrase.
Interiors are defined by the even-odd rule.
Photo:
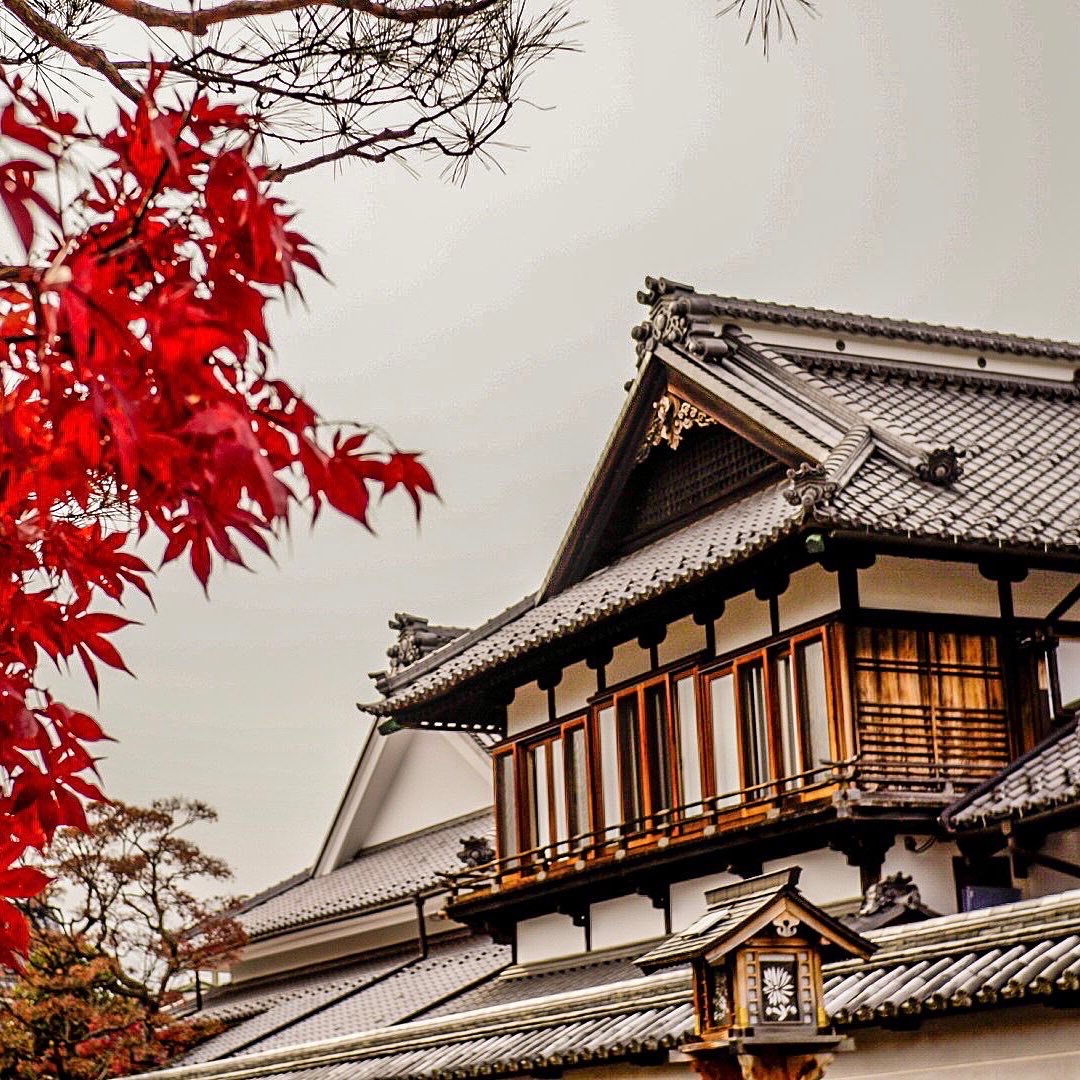
[[[158,1076],[1080,1076],[1080,346],[639,299],[545,580],[395,617]]]

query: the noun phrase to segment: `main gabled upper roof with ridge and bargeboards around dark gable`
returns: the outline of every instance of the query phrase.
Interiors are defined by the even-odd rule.
[[[652,307],[636,334],[640,369],[542,589],[399,673],[387,698],[363,708],[391,715],[431,702],[801,529],[917,537],[988,554],[1080,553],[1080,347],[738,301],[663,282],[644,299]],[[815,339],[770,346],[777,325],[926,348],[913,359],[860,356],[859,341],[843,353]],[[996,354],[1005,359],[990,364]],[[670,387],[796,468],[594,570],[650,410]]]

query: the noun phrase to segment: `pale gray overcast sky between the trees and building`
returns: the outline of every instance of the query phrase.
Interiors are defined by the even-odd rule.
[[[166,570],[123,635],[107,788],[216,806],[202,840],[241,890],[314,858],[390,613],[475,625],[542,579],[633,374],[645,274],[1080,339],[1080,4],[820,0],[768,63],[719,6],[579,3],[582,52],[530,83],[554,108],[521,109],[504,174],[292,183],[334,284],[278,313],[281,370],[423,449],[444,502],[418,532],[391,500],[374,539],[327,514],[208,604]]]

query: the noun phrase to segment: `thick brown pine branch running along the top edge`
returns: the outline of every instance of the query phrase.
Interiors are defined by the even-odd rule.
[[[126,15],[144,26],[165,27],[202,37],[212,26],[231,23],[254,15],[280,15],[283,12],[305,11],[312,8],[337,8],[391,23],[416,25],[434,19],[468,18],[505,0],[471,0],[421,4],[416,8],[392,8],[376,0],[228,0],[227,3],[204,11],[178,12],[147,3],[146,0],[96,0],[103,8]]]

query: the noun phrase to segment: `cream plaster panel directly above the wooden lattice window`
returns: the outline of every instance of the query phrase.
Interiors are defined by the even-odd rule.
[[[936,611],[996,618],[998,586],[968,563],[879,555],[868,570],[859,571],[859,600],[863,607],[902,611]]]

